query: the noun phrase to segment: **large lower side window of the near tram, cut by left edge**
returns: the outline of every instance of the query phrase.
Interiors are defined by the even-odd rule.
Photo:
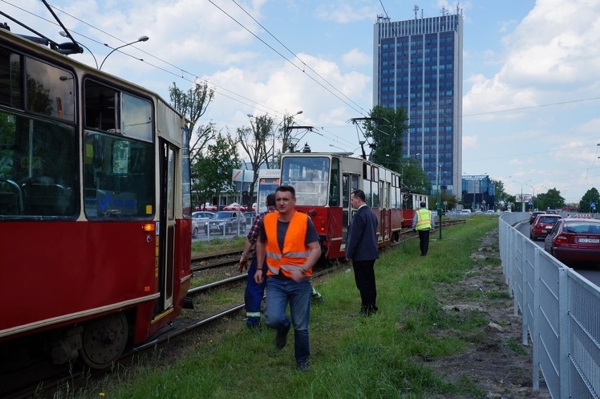
[[[73,127],[0,112],[0,217],[75,216]]]

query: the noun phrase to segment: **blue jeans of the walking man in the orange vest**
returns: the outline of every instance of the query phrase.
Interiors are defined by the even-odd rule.
[[[280,277],[267,278],[267,298],[265,300],[265,322],[277,330],[289,329],[290,321],[285,313],[289,303],[294,326],[294,356],[296,363],[302,364],[311,355],[308,339],[308,319],[311,317],[311,279],[299,283]]]

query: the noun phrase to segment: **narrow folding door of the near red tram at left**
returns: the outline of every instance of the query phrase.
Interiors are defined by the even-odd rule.
[[[158,287],[160,299],[157,313],[173,306],[173,262],[175,258],[175,182],[177,181],[177,148],[161,139],[160,179],[161,194],[158,246]]]

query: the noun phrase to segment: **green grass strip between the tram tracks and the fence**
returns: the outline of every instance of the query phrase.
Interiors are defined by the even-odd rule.
[[[311,308],[311,370],[297,372],[293,334],[275,350],[273,331],[247,331],[239,320],[218,334],[189,339],[187,354],[166,353],[110,376],[76,397],[99,398],[429,398],[482,395],[468,376],[450,383],[427,359],[461,353],[480,341],[482,312],[444,312],[439,283],[460,281],[473,267],[478,240],[498,224],[473,218],[432,236],[427,257],[418,241],[390,248],[375,264],[377,305],[373,317],[352,317],[360,296],[351,267],[316,288],[325,303]],[[483,295],[483,294],[482,294]],[[502,296],[501,289],[487,295]],[[516,348],[518,345],[507,343]],[[515,349],[516,350],[516,349]]]

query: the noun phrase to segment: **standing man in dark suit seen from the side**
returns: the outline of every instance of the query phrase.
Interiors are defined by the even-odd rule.
[[[351,260],[354,267],[356,288],[361,293],[361,315],[370,316],[377,313],[374,269],[375,260],[379,258],[377,216],[365,203],[363,190],[353,191],[350,201],[356,213],[348,229],[346,260]]]

